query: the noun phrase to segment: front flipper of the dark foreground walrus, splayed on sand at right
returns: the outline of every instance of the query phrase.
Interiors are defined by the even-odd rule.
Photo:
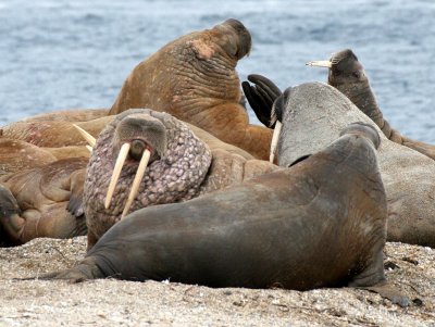
[[[384,274],[384,262],[382,251],[377,252],[375,259],[368,265],[368,267],[357,275],[349,287],[356,287],[372,292],[378,293],[382,298],[388,299],[394,304],[401,307],[410,305],[408,297],[402,294],[393,285],[389,285]]]

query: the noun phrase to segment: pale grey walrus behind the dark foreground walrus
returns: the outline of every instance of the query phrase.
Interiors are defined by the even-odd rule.
[[[254,78],[256,79],[256,78]],[[252,87],[249,102],[262,98],[262,83]],[[261,90],[259,90],[261,89]],[[272,97],[272,93],[269,92]],[[268,100],[260,101],[260,108]],[[435,248],[435,174],[433,160],[412,149],[390,141],[378,126],[336,88],[321,83],[306,83],[287,88],[273,109],[274,121],[282,123],[277,142],[277,163],[286,166],[296,159],[319,151],[334,139],[334,134],[360,121],[375,127],[382,138],[378,162],[388,201],[389,241]],[[278,125],[278,123],[276,123]]]

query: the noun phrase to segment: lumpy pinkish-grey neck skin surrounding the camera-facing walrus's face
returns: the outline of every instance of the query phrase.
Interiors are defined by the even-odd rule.
[[[115,139],[115,128],[123,120],[136,113],[146,113],[159,120],[166,129],[167,143],[165,153],[148,165],[130,211],[150,204],[178,202],[196,197],[209,169],[212,159],[210,149],[178,120],[166,113],[150,110],[129,110],[117,115],[101,131],[87,168],[84,204],[90,246],[121,218],[138,167],[138,162],[132,159],[127,160],[123,168],[115,188],[116,196],[111,205],[104,209],[103,190],[109,188],[121,148]],[[133,135],[132,139],[139,137],[140,135]]]

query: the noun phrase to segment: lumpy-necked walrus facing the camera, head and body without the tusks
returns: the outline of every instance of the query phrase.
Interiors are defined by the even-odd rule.
[[[144,148],[151,149],[150,162],[129,212],[149,205],[186,201],[277,168],[252,160],[245,151],[225,144],[197,127],[194,130],[206,143],[185,123],[166,113],[145,109],[119,114],[104,128],[90,156],[85,181],[88,248],[121,219],[138,169],[142,153],[134,155],[129,150],[113,200],[105,209],[104,199],[123,143],[140,139],[145,142]]]

